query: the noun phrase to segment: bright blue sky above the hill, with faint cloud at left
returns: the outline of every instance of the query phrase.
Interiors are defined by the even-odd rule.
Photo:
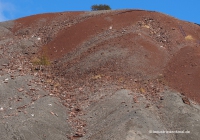
[[[0,21],[40,13],[90,11],[94,4],[107,4],[113,10],[157,11],[200,24],[200,0],[0,0]]]

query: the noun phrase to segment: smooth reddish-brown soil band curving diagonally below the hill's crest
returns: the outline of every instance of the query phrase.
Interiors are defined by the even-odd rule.
[[[110,26],[114,30],[120,30],[132,27],[143,18],[154,15],[159,17],[159,14],[157,15],[154,12],[133,10],[93,16],[88,20],[61,31],[52,42],[47,44],[48,54],[51,59],[60,58],[92,36],[108,30]]]

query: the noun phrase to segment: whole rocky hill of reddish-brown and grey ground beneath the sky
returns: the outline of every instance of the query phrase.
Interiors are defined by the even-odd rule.
[[[0,138],[197,140],[199,31],[142,10],[0,23]]]

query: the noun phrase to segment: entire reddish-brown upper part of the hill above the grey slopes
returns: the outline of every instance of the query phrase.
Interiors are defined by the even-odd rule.
[[[47,25],[51,28],[44,34],[39,27]],[[55,32],[39,50],[57,60],[51,74],[62,86],[69,81],[70,86],[83,84],[84,78],[98,74],[124,81],[159,80],[164,75],[166,85],[200,102],[198,25],[156,12],[124,10],[30,16],[16,20],[13,32],[22,28],[42,38]],[[193,39],[186,40],[187,35]]]

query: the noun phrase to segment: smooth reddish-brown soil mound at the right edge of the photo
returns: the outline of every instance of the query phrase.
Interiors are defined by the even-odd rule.
[[[200,48],[184,47],[172,57],[166,68],[169,86],[200,102]]]

